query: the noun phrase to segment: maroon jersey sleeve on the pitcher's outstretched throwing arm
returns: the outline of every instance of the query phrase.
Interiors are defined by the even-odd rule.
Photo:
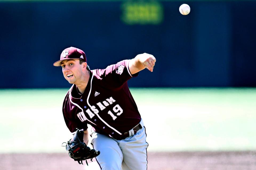
[[[139,73],[131,75],[129,70],[129,61],[123,60],[116,64],[107,66],[106,69],[97,69],[96,76],[104,81],[105,86],[109,88],[119,88],[132,77],[137,77]]]

